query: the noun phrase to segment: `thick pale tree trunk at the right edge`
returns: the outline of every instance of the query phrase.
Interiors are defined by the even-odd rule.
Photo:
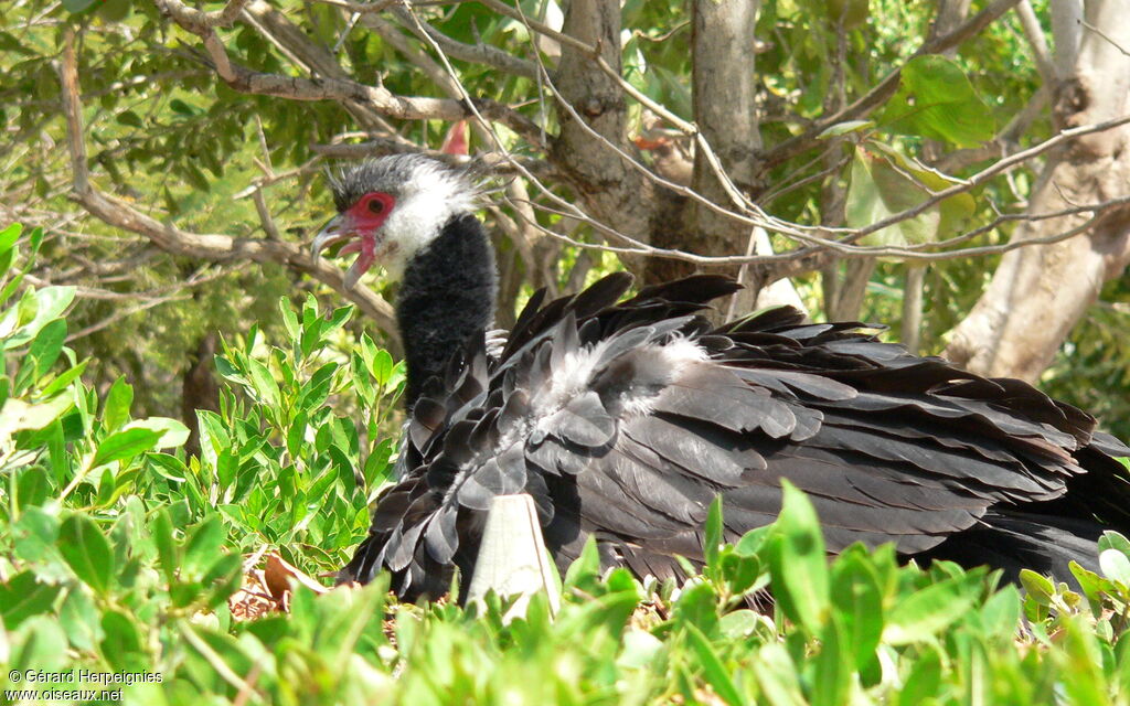
[[[1054,8],[1062,15],[1072,3]],[[1058,128],[1125,115],[1130,111],[1130,23],[1124,0],[1086,3],[1078,51],[1059,41],[1061,77],[1055,89]],[[1075,29],[1078,25],[1060,21]],[[1104,36],[1105,35],[1105,36]],[[1062,45],[1061,45],[1062,44]],[[1130,128],[1085,136],[1049,156],[1028,204],[1037,215],[1098,203],[1130,193]],[[1080,226],[1089,215],[1022,224],[1014,239],[1051,236]],[[1130,207],[1107,211],[1083,235],[1051,245],[1010,251],[1001,258],[989,288],[954,330],[946,356],[971,371],[1035,381],[1096,299],[1105,280],[1130,262]]]

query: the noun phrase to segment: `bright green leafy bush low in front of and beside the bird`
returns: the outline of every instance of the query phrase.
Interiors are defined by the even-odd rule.
[[[1025,574],[1022,595],[985,569],[901,566],[890,547],[828,563],[791,487],[777,522],[732,546],[715,505],[705,570],[679,587],[601,575],[590,546],[555,616],[544,596],[508,624],[493,595],[403,605],[377,581],[296,584],[288,612],[241,619],[233,602],[264,551],[318,573],[359,541],[402,371],[345,340],[351,310],[285,303],[284,346],[252,329],[224,347],[220,411],[200,412],[201,453],[185,457],[188,429],[131,419],[124,381],[104,395],[82,384],[66,346],[73,291],[21,282],[18,236],[0,233],[6,690],[58,688],[32,679],[64,672],[78,674],[66,688],[145,704],[1130,703],[1125,538],[1101,540],[1099,574],[1076,567],[1081,593]]]

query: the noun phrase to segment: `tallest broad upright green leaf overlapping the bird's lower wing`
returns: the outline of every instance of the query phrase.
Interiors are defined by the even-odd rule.
[[[784,479],[781,488],[781,515],[766,552],[773,596],[790,620],[819,633],[829,604],[824,535],[805,494]]]

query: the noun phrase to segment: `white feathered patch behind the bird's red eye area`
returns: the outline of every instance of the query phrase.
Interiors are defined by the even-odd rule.
[[[441,165],[424,164],[400,189],[379,232],[385,270],[399,279],[405,265],[440,236],[454,217],[477,207],[475,189]]]

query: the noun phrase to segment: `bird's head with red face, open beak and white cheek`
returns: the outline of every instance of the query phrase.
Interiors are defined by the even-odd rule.
[[[358,253],[346,272],[353,288],[377,261],[399,277],[452,218],[476,208],[478,191],[466,172],[423,155],[393,155],[346,168],[330,180],[334,216],[314,237],[314,258],[341,245]]]

